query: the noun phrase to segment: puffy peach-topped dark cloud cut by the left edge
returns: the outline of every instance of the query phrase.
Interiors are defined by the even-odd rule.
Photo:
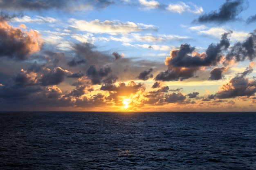
[[[24,24],[21,27],[15,28],[0,20],[0,57],[25,60],[40,50],[43,42],[40,34],[32,29],[27,31]]]

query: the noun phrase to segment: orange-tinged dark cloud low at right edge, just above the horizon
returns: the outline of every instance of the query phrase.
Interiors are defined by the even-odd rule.
[[[252,68],[247,68],[243,73],[239,73],[231,79],[229,83],[222,85],[221,90],[216,93],[216,97],[225,99],[239,96],[254,96],[256,93],[256,80],[245,78],[252,71]]]

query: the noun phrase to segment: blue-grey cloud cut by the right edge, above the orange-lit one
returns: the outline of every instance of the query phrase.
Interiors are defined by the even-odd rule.
[[[236,42],[231,50],[226,55],[226,61],[224,64],[228,64],[229,61],[235,60],[236,62],[249,59],[253,61],[256,57],[256,31],[249,34],[249,37],[244,42]]]

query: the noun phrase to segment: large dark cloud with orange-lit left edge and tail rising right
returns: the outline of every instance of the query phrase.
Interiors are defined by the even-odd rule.
[[[222,59],[222,51],[229,47],[229,33],[224,33],[219,43],[210,44],[206,53],[197,53],[195,47],[189,44],[180,45],[180,49],[172,50],[170,57],[166,57],[165,65],[167,71],[160,72],[155,80],[159,81],[178,81],[194,76],[202,66],[215,66]]]

